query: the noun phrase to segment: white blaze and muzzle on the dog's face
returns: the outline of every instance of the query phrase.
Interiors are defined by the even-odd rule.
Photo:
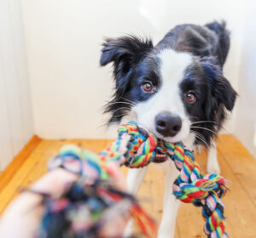
[[[185,69],[192,63],[192,56],[167,48],[160,51],[156,58],[159,59],[160,88],[152,97],[137,103],[131,110],[136,111],[137,122],[159,138],[164,138],[169,142],[181,141],[189,135],[190,121],[183,105],[180,82],[183,80]],[[177,133],[171,133],[172,136],[168,132],[160,133],[160,130],[157,129],[157,117],[161,114],[164,114],[163,117],[167,116],[166,120],[168,117],[171,118],[171,121],[172,117],[174,117],[174,121],[180,119],[180,122],[171,122],[172,125],[170,125],[170,127],[177,127]],[[163,118],[162,123],[168,123],[165,122],[166,120]],[[164,124],[160,126],[167,127]]]

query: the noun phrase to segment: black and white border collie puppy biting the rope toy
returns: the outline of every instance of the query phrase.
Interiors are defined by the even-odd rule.
[[[236,91],[223,75],[230,33],[216,21],[206,26],[176,26],[154,46],[126,36],[103,43],[101,65],[113,63],[115,91],[106,112],[109,122],[137,121],[158,138],[208,149],[208,172],[219,173],[215,137],[232,111]],[[161,158],[162,159],[162,158]],[[137,193],[147,167],[128,173]],[[166,161],[166,191],[158,237],[173,237],[178,201],[172,195],[177,170]]]

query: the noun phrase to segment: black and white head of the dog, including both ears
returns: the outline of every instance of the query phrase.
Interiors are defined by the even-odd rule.
[[[236,92],[214,57],[154,48],[149,39],[128,36],[104,42],[101,65],[108,63],[115,81],[109,122],[133,112],[141,126],[169,142],[195,133],[197,142],[208,143],[235,104]]]

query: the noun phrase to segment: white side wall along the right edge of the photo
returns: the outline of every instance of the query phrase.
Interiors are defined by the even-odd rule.
[[[256,155],[256,2],[247,1],[235,134]]]

